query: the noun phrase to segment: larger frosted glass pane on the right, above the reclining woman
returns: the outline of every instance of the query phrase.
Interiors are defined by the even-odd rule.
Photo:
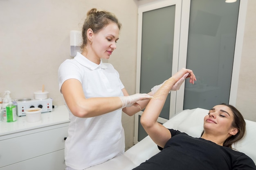
[[[186,65],[197,81],[185,83],[183,109],[229,103],[239,4],[191,0]]]

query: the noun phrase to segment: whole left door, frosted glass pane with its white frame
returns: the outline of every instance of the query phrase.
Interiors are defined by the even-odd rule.
[[[181,4],[180,0],[168,0],[139,8],[137,93],[150,92],[177,72]],[[168,95],[160,123],[175,114],[175,96],[176,92]],[[142,113],[135,115],[135,143],[147,135],[139,122]]]

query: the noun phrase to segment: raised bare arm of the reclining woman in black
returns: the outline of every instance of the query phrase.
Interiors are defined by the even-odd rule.
[[[171,90],[173,85],[186,73],[189,73],[189,76],[187,76],[186,78],[190,78],[190,83],[194,83],[194,81],[196,81],[195,75],[193,74],[192,70],[184,68],[181,69],[171,78],[169,78],[162,85],[162,87],[157,90],[153,98],[149,101],[140,119],[143,128],[151,137],[151,139],[162,148],[164,148],[166,142],[171,138],[171,133],[168,129],[166,129],[166,127],[157,122],[157,118],[162,111],[169,91]]]

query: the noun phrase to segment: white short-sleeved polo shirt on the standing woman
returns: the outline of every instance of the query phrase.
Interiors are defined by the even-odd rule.
[[[65,60],[58,70],[59,88],[70,78],[79,80],[86,98],[124,96],[119,73],[110,63],[99,65],[77,52],[74,59]],[[82,170],[124,153],[122,110],[78,118],[70,112],[68,137],[65,140],[65,163]]]

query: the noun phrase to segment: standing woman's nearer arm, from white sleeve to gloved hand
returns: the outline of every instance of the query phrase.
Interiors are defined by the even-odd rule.
[[[68,79],[63,83],[61,92],[70,111],[79,118],[99,116],[121,109],[123,106],[123,102],[119,97],[85,98],[80,81],[74,78]],[[136,101],[149,98],[145,94],[132,96],[132,100]],[[123,101],[125,99],[123,98]]]

